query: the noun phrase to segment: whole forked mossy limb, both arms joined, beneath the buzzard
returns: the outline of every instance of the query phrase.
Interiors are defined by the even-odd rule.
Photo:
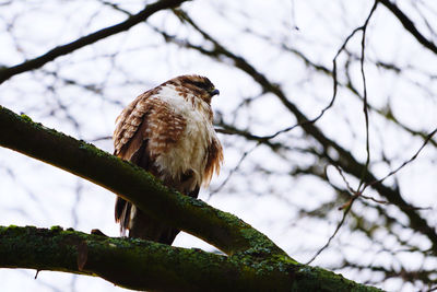
[[[60,227],[0,227],[0,267],[98,276],[138,290],[378,291],[305,266],[240,219],[163,186],[144,170],[0,106],[0,145],[88,179],[228,255]]]

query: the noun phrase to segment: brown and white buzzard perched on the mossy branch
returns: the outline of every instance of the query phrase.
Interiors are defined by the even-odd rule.
[[[200,75],[180,75],[144,92],[116,120],[114,154],[197,198],[223,162],[212,125],[211,98],[216,94],[211,81]],[[180,232],[120,197],[115,217],[123,236],[129,230],[129,237],[170,245]]]

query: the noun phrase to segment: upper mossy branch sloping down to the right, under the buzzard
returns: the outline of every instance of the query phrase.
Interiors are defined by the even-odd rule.
[[[265,235],[235,215],[168,189],[144,170],[84,141],[0,106],[0,145],[91,180],[142,211],[216,246],[227,255],[248,249],[284,255]]]

